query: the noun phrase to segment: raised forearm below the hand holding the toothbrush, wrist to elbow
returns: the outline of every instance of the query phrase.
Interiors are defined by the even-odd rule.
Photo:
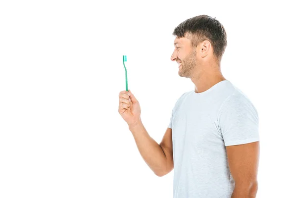
[[[132,132],[137,148],[149,168],[156,175],[162,176],[166,170],[166,156],[161,146],[148,135],[141,121],[129,126],[129,130]]]

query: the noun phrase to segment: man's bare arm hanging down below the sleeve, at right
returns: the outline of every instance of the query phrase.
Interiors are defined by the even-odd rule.
[[[227,146],[227,156],[235,188],[231,198],[255,198],[258,190],[259,142]]]

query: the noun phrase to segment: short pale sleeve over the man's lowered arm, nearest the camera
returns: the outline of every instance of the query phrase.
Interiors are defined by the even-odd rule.
[[[225,146],[259,141],[258,113],[245,95],[236,93],[227,98],[221,105],[217,123]]]

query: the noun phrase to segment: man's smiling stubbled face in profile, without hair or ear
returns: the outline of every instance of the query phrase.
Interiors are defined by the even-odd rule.
[[[191,40],[187,38],[176,38],[174,47],[171,60],[179,64],[178,74],[181,77],[191,78],[197,65],[196,48],[192,48]]]

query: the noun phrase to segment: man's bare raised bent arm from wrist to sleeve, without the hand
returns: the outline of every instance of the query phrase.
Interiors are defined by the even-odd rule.
[[[141,121],[129,129],[149,168],[159,177],[169,173],[173,169],[172,129],[167,128],[160,145],[148,135]]]

